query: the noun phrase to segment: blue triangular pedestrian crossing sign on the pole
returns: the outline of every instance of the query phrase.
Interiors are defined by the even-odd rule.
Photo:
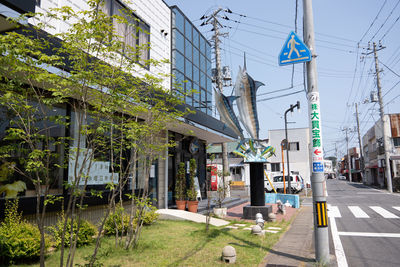
[[[278,61],[280,66],[296,64],[311,60],[310,49],[297,36],[294,31],[291,31],[285,44],[279,53]]]

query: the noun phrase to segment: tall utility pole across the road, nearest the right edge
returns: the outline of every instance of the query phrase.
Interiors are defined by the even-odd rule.
[[[380,47],[383,49],[384,47]],[[379,49],[379,50],[380,50]],[[387,182],[387,189],[389,193],[393,193],[392,188],[392,175],[390,173],[390,161],[389,161],[389,142],[388,142],[388,133],[386,131],[386,125],[388,123],[387,117],[385,116],[385,112],[383,110],[383,101],[382,101],[382,88],[381,81],[379,79],[379,65],[378,65],[378,54],[376,43],[374,42],[374,57],[375,57],[375,71],[376,71],[376,87],[378,87],[378,98],[379,98],[379,113],[381,115],[382,121],[382,132],[383,132],[383,149],[385,150],[385,175]]]

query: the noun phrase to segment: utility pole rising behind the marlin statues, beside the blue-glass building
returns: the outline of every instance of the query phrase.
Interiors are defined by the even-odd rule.
[[[223,83],[222,83],[222,71],[221,71],[221,51],[219,48],[219,37],[223,34],[219,32],[219,28],[222,27],[222,24],[218,21],[217,15],[219,12],[223,11],[222,8],[218,8],[213,12],[211,17],[206,21],[206,23],[212,23],[213,25],[213,30],[214,30],[214,50],[215,50],[215,69],[216,69],[216,85],[218,90],[222,93],[223,92]],[[229,173],[229,161],[228,161],[228,146],[227,143],[222,143],[221,144],[221,149],[222,149],[222,177],[223,177],[223,182],[224,182],[224,188],[228,188],[228,190],[225,192],[225,195],[227,197],[230,197],[230,190],[229,187],[227,187],[227,184],[230,180],[230,175],[228,176],[227,179],[225,179],[225,175]]]

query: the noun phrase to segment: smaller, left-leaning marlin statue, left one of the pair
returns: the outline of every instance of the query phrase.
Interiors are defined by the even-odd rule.
[[[233,101],[237,99],[237,96],[224,96],[218,90],[215,90],[215,103],[221,117],[221,121],[228,125],[240,139],[243,139],[243,130],[240,127],[238,118],[233,111]]]

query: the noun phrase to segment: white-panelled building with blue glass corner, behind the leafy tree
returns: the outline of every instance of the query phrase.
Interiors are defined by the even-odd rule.
[[[24,12],[42,12],[50,8],[60,7],[62,4],[68,5],[75,10],[88,8],[84,0],[59,1],[59,3],[51,0],[1,1],[0,11],[2,12],[0,14],[2,15],[0,16],[0,29],[2,31],[13,30],[13,27],[6,21],[7,16],[11,15],[18,16]],[[117,14],[121,8],[127,8],[132,11],[132,15],[135,18],[135,25],[144,29],[144,31],[136,31],[127,25],[116,24],[121,34],[126,35],[128,33],[125,41],[130,45],[141,46],[150,43],[150,47],[146,51],[140,53],[137,58],[132,59],[139,63],[134,73],[131,73],[132,75],[138,77],[146,73],[156,75],[160,79],[163,79],[162,85],[166,93],[171,92],[171,90],[189,92],[190,88],[196,90],[186,96],[185,104],[180,107],[182,109],[186,107],[190,108],[194,112],[182,118],[183,124],[170,125],[162,133],[165,137],[168,136],[169,140],[175,141],[177,146],[170,148],[169,151],[165,151],[164,159],[158,159],[152,163],[148,186],[151,197],[156,199],[155,205],[159,208],[168,208],[174,205],[174,184],[177,166],[179,162],[187,163],[191,158],[197,160],[198,184],[205,195],[207,143],[226,142],[237,137],[221,121],[210,116],[212,114],[212,102],[210,102],[212,101],[212,89],[210,78],[211,46],[209,42],[184,16],[178,7],[171,9],[162,0],[138,0],[132,1],[130,4],[119,0],[105,0],[102,8],[108,15]],[[32,21],[28,22],[33,23]],[[52,26],[54,27],[46,33],[49,36],[68,29],[67,24],[57,22],[54,22]],[[129,34],[133,34],[134,36],[130,38]],[[142,62],[148,59],[157,61],[169,60],[172,62],[172,65],[167,63],[156,66],[142,64]],[[171,72],[175,74],[176,79],[172,80],[168,76]],[[180,82],[182,79],[190,80],[190,84],[184,83],[183,87],[175,85],[175,82]],[[70,107],[67,105],[57,106],[49,112],[71,118],[72,126],[68,129],[59,128],[54,131],[56,134],[60,135],[60,137],[74,137],[74,135],[79,135],[74,130],[74,119],[79,114],[74,114]],[[7,121],[1,121],[0,139],[4,137],[4,131],[7,127]],[[68,157],[66,151],[59,151],[59,154],[61,161]],[[106,184],[110,182],[110,179],[113,179],[110,176],[109,168],[110,163],[106,159],[96,161],[93,173],[89,174],[90,181],[88,185],[99,190],[106,190]],[[71,176],[71,168],[67,167],[65,171],[58,170],[58,172],[57,179],[59,181],[54,184],[50,192],[55,195],[62,195],[65,193],[63,183]],[[134,186],[132,184],[129,185],[126,188],[127,192],[140,190],[145,187],[143,183],[144,178],[141,175],[138,177],[138,179],[142,180],[136,181]],[[20,194],[20,203],[32,203],[29,207],[35,206],[33,203],[35,201],[33,189],[32,185],[28,185],[27,190]],[[1,199],[4,200],[4,195],[0,196],[0,201],[2,201]],[[91,204],[101,204],[94,200],[88,200],[88,202]],[[31,212],[34,211],[34,209],[27,208],[24,212],[29,212],[29,210]]]

